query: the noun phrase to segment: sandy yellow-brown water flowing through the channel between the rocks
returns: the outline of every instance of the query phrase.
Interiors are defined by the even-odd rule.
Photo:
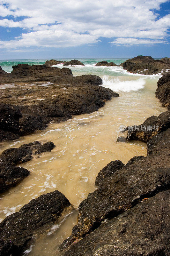
[[[135,81],[138,83],[139,79],[144,79],[144,88],[129,92],[119,91],[120,97],[112,98],[103,108],[92,114],[73,116],[66,122],[49,124],[44,131],[4,143],[1,152],[6,148],[19,147],[35,140],[43,143],[52,141],[55,148],[51,152],[42,153],[39,158],[34,157],[31,161],[20,165],[28,169],[31,174],[18,186],[1,196],[0,220],[18,211],[31,199],[55,189],[62,192],[70,203],[78,208],[80,202],[94,191],[98,172],[110,161],[119,159],[127,163],[133,156],[146,156],[145,143],[137,141],[122,143],[116,140],[119,136],[125,136],[119,131],[121,124],[125,126],[141,124],[147,117],[165,111],[159,100],[155,98],[158,78],[108,76],[106,79],[105,77],[106,87],[112,88],[120,82],[124,82],[124,86],[127,81],[135,84]],[[70,213],[62,223],[59,223],[59,226],[55,225],[51,231],[38,239],[29,255],[55,255],[57,245],[70,235],[76,223],[77,213],[76,210]]]

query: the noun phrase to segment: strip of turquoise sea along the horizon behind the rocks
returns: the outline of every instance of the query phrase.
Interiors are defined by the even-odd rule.
[[[54,58],[55,59],[55,58]],[[0,60],[0,66],[2,69],[4,69],[6,72],[12,71],[12,66],[26,63],[28,65],[40,65],[44,64],[46,60],[51,59],[29,59],[29,60]],[[72,59],[55,59],[55,60],[63,60],[63,61],[70,61]],[[112,58],[112,59],[77,59],[83,62],[85,65],[93,65],[96,64],[99,61],[106,60],[108,62],[113,61],[115,64],[119,65],[125,60],[128,60],[127,58]]]

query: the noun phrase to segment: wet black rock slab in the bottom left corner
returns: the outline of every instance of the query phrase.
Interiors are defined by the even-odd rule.
[[[71,207],[69,200],[55,190],[31,200],[19,212],[6,217],[0,223],[0,255],[20,255],[35,237],[56,223],[68,207]]]

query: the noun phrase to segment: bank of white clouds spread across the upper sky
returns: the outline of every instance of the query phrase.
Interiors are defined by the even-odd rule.
[[[0,26],[24,28],[27,33],[1,48],[68,47],[97,43],[99,37],[117,38],[112,44],[165,43],[170,15],[159,10],[166,0],[6,0],[0,1]],[[7,3],[6,5],[3,5]],[[12,15],[13,19],[7,19]],[[25,17],[17,20],[18,17]],[[33,31],[33,32],[31,32]],[[124,38],[123,38],[124,37]],[[123,38],[123,39],[122,39]]]

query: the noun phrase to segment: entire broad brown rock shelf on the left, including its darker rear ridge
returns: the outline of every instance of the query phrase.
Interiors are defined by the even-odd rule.
[[[44,79],[44,77],[47,79]],[[0,80],[8,79],[9,73]],[[22,81],[1,89],[0,142],[15,140],[43,130],[49,122],[61,122],[72,115],[92,113],[103,107],[107,100],[118,93],[100,86],[102,79],[95,75],[73,76],[69,68],[46,67],[45,65],[19,64],[13,66],[10,81]],[[58,75],[58,76],[56,76]],[[15,78],[12,78],[14,76]],[[26,81],[41,79],[41,83]],[[48,83],[47,83],[48,80]],[[6,80],[5,80],[6,81]]]

